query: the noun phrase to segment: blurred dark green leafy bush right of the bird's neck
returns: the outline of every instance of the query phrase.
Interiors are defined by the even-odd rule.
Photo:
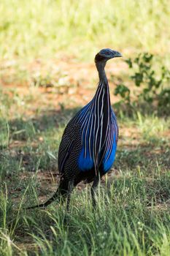
[[[156,69],[155,56],[150,53],[139,53],[135,59],[126,59],[125,62],[132,70],[131,79],[134,81],[134,86],[139,89],[132,91],[125,84],[118,84],[115,95],[120,95],[122,98],[118,105],[122,102],[129,108],[145,105],[149,107],[148,109],[156,109],[159,114],[169,114],[169,70],[164,66]]]

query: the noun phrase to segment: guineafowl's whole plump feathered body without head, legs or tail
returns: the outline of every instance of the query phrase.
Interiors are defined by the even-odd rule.
[[[73,178],[107,173],[115,159],[118,127],[109,86],[99,84],[93,99],[69,121],[58,151],[59,171]]]

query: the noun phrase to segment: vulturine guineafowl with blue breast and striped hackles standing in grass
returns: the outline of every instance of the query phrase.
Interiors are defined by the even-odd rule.
[[[45,203],[30,208],[45,208],[54,200],[67,199],[69,210],[74,187],[84,181],[93,181],[90,189],[93,207],[96,207],[96,188],[99,181],[115,161],[118,141],[118,124],[112,109],[109,83],[104,67],[109,59],[122,57],[117,50],[104,48],[95,56],[98,86],[93,99],[69,121],[64,129],[58,149],[58,189]]]

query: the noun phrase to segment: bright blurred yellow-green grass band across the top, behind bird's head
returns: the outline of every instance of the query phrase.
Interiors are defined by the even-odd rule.
[[[0,6],[0,54],[9,60],[47,58],[63,50],[89,59],[111,47],[167,56],[169,15],[168,0],[6,0]]]

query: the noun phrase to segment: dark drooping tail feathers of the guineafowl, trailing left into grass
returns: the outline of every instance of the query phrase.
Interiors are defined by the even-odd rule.
[[[50,199],[48,199],[45,203],[40,203],[39,205],[36,205],[36,206],[30,206],[30,207],[27,207],[26,209],[45,208],[48,205],[50,205],[50,203],[53,203],[54,200],[64,201],[66,199],[67,193],[68,193],[68,183],[66,184],[65,182],[61,182],[55,194],[52,197],[50,197]]]

